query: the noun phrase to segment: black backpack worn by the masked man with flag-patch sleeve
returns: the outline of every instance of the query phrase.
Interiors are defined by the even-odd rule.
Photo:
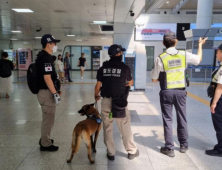
[[[39,86],[38,86],[36,63],[32,63],[29,65],[29,68],[27,71],[27,82],[28,82],[30,91],[33,94],[37,94],[39,92]]]

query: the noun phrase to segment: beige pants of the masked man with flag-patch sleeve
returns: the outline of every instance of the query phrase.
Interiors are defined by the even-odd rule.
[[[39,90],[37,97],[42,108],[41,144],[48,147],[52,145],[49,139],[55,121],[55,99],[49,90]]]

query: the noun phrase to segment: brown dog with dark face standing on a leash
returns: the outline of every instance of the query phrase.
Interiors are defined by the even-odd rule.
[[[83,139],[87,147],[88,159],[91,164],[94,163],[91,157],[91,147],[93,152],[96,152],[96,141],[99,136],[99,131],[102,128],[102,124],[97,123],[97,120],[101,120],[100,114],[96,108],[93,107],[94,104],[87,104],[78,111],[82,116],[86,115],[87,119],[79,122],[73,131],[72,139],[72,152],[70,158],[67,160],[67,163],[71,163],[74,154],[77,153],[81,140]],[[93,141],[93,135],[94,141]]]

